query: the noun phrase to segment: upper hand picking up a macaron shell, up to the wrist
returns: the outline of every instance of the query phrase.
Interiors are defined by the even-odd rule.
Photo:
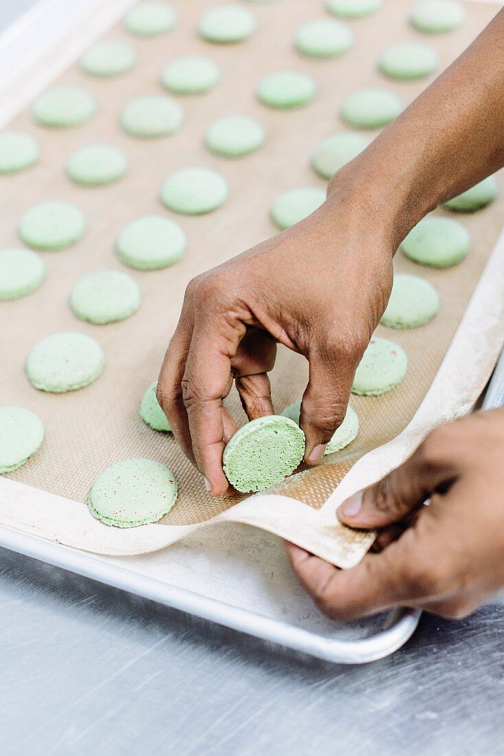
[[[219,496],[237,429],[222,406],[233,379],[250,420],[272,414],[276,342],[310,362],[300,426],[317,463],[344,419],[353,374],[387,304],[397,243],[347,191],[293,228],[191,280],[157,398],[185,454]]]

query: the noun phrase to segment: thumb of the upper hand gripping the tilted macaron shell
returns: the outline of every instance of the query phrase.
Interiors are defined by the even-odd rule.
[[[338,348],[310,352],[310,379],[301,402],[300,426],[306,435],[305,461],[319,463],[334,431],[343,423],[358,358]]]

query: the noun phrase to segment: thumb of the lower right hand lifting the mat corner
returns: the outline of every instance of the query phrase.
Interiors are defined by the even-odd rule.
[[[350,496],[338,508],[338,519],[352,528],[383,528],[421,507],[437,488],[453,480],[453,469],[429,460],[424,442],[406,462],[378,483]]]

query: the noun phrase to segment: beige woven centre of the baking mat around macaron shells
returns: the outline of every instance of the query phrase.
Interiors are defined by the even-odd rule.
[[[96,80],[73,65],[60,77],[58,83],[79,85],[95,95],[98,113],[91,122],[78,129],[42,129],[25,110],[9,125],[36,136],[42,160],[26,172],[0,177],[0,246],[20,244],[17,220],[26,208],[42,199],[64,198],[76,203],[86,214],[88,228],[82,242],[71,249],[42,253],[48,276],[39,290],[15,302],[0,303],[0,376],[2,404],[29,407],[41,417],[46,431],[39,453],[6,477],[84,502],[93,480],[105,466],[127,457],[151,457],[168,464],[179,480],[179,500],[163,524],[190,525],[228,509],[239,499],[213,500],[208,496],[173,437],[152,431],[138,416],[142,394],[157,377],[176,326],[185,285],[195,274],[274,234],[269,206],[281,191],[303,184],[325,186],[310,168],[310,155],[322,138],[345,128],[338,119],[338,110],[348,92],[363,85],[379,85],[396,91],[408,104],[428,84],[431,79],[416,83],[383,79],[375,63],[387,45],[421,39],[437,50],[446,67],[490,21],[496,8],[468,3],[468,18],[462,29],[426,37],[415,33],[407,23],[409,2],[385,0],[384,7],[374,16],[350,22],[356,36],[352,51],[339,59],[309,60],[295,53],[292,41],[300,23],[324,14],[320,0],[247,5],[257,17],[257,33],[238,45],[211,45],[194,33],[201,11],[216,2],[173,0],[173,5],[179,10],[179,26],[165,36],[135,39],[123,32],[120,24],[104,35],[127,39],[137,51],[138,64],[129,75]],[[222,69],[222,81],[216,89],[204,96],[179,98],[185,109],[185,124],[173,137],[139,141],[123,134],[117,126],[122,107],[136,95],[160,93],[163,64],[188,53],[206,54],[216,60]],[[313,76],[318,91],[312,104],[285,112],[270,110],[257,102],[254,89],[261,76],[282,68]],[[266,126],[268,138],[257,153],[230,161],[208,153],[203,138],[214,119],[232,113],[259,119]],[[76,187],[64,174],[67,157],[77,147],[98,140],[110,141],[126,152],[129,174],[110,187]],[[222,172],[229,181],[229,201],[201,217],[172,215],[158,200],[160,186],[174,170],[192,165]],[[114,256],[114,240],[126,222],[148,213],[171,216],[182,225],[188,237],[185,258],[163,271],[129,271],[141,287],[142,306],[127,321],[93,326],[76,320],[67,303],[73,284],[82,274],[97,268],[126,269]],[[447,215],[443,210],[437,213]],[[496,243],[502,225],[502,198],[482,212],[456,217],[472,237],[471,253],[462,265],[432,271],[414,265],[400,253],[395,261],[397,271],[420,274],[434,283],[441,299],[440,314],[421,329],[378,329],[380,335],[396,340],[406,349],[406,380],[383,397],[353,397],[351,402],[361,424],[356,441],[340,454],[326,457],[322,469],[301,473],[282,484],[277,489],[279,493],[320,507],[356,460],[395,438],[418,410]],[[334,296],[338,296],[337,281]],[[78,392],[37,392],[23,373],[26,355],[43,336],[61,330],[75,330],[97,339],[106,355],[104,373],[92,386]],[[483,388],[498,347],[495,339],[487,345],[488,359],[471,386],[473,392]],[[272,373],[276,411],[300,397],[306,373],[303,358],[284,348],[279,350]],[[228,401],[232,414],[244,422],[236,396]],[[456,414],[456,401],[453,406]],[[438,419],[432,417],[432,424]],[[269,528],[268,523],[264,526]],[[51,533],[46,534],[51,537]],[[104,542],[107,538],[104,535]],[[306,540],[306,534],[300,532],[296,540],[303,538]],[[354,535],[345,530],[341,538],[351,544]],[[73,545],[88,547],[85,540],[76,543],[74,539]],[[106,545],[103,550],[107,551]]]

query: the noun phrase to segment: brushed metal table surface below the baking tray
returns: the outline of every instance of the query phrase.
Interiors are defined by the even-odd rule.
[[[2,754],[504,754],[503,647],[497,600],[335,667],[0,550]]]

